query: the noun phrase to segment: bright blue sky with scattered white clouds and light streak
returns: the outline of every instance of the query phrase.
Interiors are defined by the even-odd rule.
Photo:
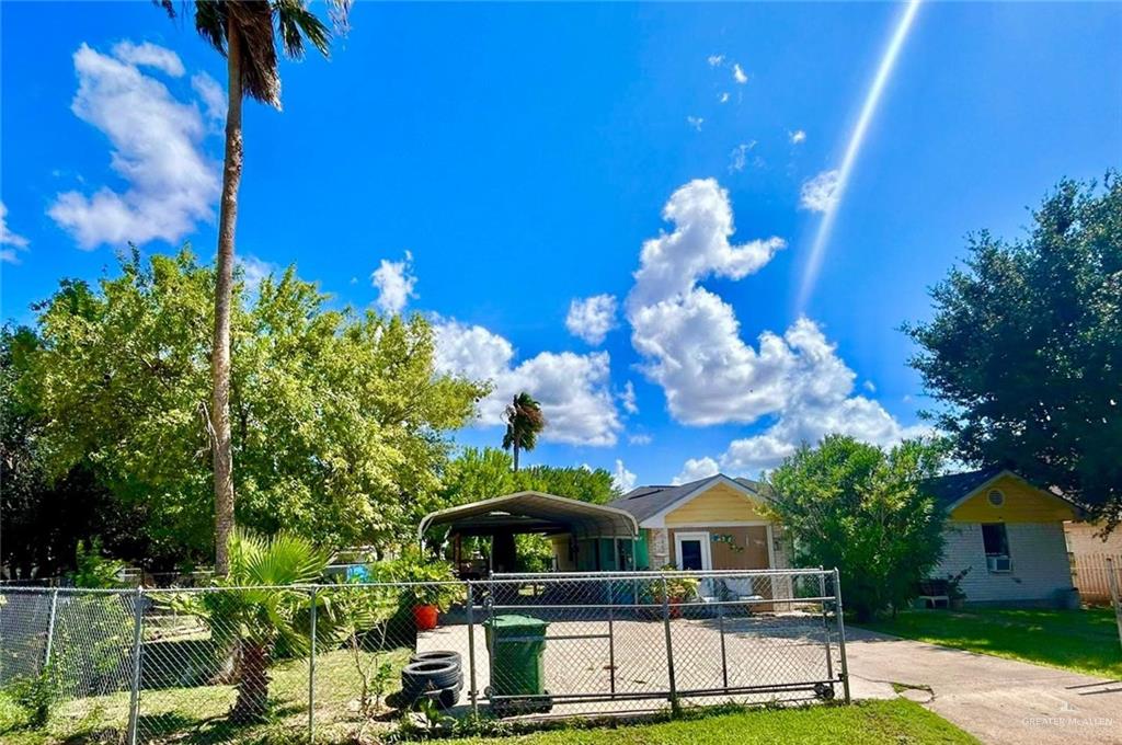
[[[922,426],[899,325],[965,234],[1122,165],[1122,6],[923,4],[839,197],[903,12],[359,2],[330,62],[284,64],[283,113],[246,104],[237,250],[431,315],[445,369],[546,405],[532,462],[665,482],[826,431],[891,443]],[[146,2],[0,25],[3,318],[130,238],[212,256],[224,64],[190,25]],[[503,403],[457,439],[497,443]]]

